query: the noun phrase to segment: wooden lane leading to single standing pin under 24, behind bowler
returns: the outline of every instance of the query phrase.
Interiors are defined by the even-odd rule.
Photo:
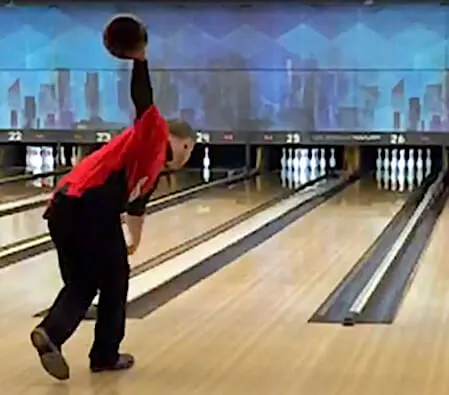
[[[176,175],[163,176],[153,198],[156,199],[200,182],[201,175],[198,172],[180,172]],[[8,229],[8,232],[0,233],[0,247],[47,233],[47,224],[42,219],[44,210],[45,207],[38,207],[0,217],[0,228]]]

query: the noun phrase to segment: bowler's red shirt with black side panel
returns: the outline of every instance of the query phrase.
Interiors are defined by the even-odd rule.
[[[86,198],[98,209],[142,215],[165,166],[168,126],[151,106],[133,126],[84,158],[56,190]]]

